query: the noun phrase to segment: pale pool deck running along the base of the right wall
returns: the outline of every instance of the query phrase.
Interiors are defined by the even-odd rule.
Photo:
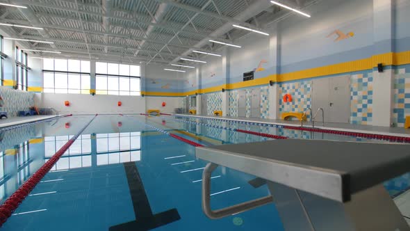
[[[216,118],[225,119],[233,121],[245,121],[245,122],[259,122],[269,125],[282,125],[282,126],[293,126],[300,127],[300,121],[295,120],[271,120],[262,118],[245,118],[245,117],[232,117],[232,116],[201,116],[201,115],[188,115],[188,114],[172,114],[174,116],[189,116],[193,118]],[[304,122],[303,127],[313,127],[311,122]],[[403,136],[410,137],[410,129],[405,129],[404,127],[381,127],[372,125],[352,125],[347,123],[336,123],[336,122],[315,122],[315,128],[318,129],[331,129],[341,132],[361,132],[366,134],[380,134],[388,136]]]

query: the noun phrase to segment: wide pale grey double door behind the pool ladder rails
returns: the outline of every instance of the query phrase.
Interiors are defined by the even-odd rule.
[[[313,114],[319,108],[325,111],[325,122],[350,122],[350,76],[313,80]],[[315,121],[322,121],[321,112]]]

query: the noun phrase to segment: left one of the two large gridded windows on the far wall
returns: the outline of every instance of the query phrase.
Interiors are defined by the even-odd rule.
[[[90,61],[43,59],[44,93],[90,93]]]

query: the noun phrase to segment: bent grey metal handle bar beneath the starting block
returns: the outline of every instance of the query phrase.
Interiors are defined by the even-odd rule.
[[[218,219],[232,214],[238,214],[262,205],[268,205],[273,202],[272,196],[265,196],[256,200],[250,200],[238,205],[233,205],[223,209],[211,209],[211,174],[218,167],[218,164],[208,163],[202,173],[202,210],[208,218]]]

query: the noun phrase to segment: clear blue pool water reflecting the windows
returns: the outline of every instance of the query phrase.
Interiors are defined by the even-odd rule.
[[[60,118],[0,134],[1,203],[92,117]],[[191,145],[147,125],[206,146],[269,139],[212,126],[368,142],[208,119],[97,116],[0,230],[283,230],[273,204],[220,220],[207,218],[200,181],[206,162],[195,158]],[[266,186],[255,189],[248,183],[252,175],[219,167],[213,177],[213,209],[268,195]],[[394,196],[409,184],[407,174],[384,185]]]

